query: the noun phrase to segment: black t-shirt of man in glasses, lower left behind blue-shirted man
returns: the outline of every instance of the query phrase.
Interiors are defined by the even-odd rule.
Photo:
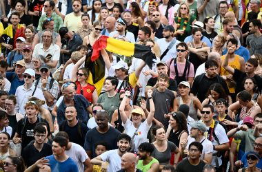
[[[52,155],[52,146],[47,143],[43,144],[41,151],[38,151],[33,144],[28,144],[21,154],[26,166],[31,166],[34,162],[37,162],[37,160],[49,155]]]

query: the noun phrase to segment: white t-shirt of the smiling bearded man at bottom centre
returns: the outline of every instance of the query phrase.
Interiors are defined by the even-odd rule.
[[[119,149],[114,149],[102,153],[100,156],[103,161],[108,162],[108,171],[121,170],[121,156],[117,152]]]

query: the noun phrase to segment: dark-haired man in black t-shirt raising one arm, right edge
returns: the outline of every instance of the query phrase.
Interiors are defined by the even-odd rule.
[[[257,41],[259,42],[259,41]],[[229,47],[228,52],[234,51],[234,47]],[[262,78],[256,74],[254,74],[256,67],[259,65],[258,61],[255,58],[250,58],[245,63],[245,72],[242,72],[239,69],[234,69],[230,65],[228,65],[228,58],[229,56],[225,56],[225,59],[222,63],[222,67],[227,70],[230,74],[233,75],[233,80],[236,81],[236,93],[241,92],[244,90],[243,87],[243,79],[247,76],[254,78],[256,80],[256,85],[258,87],[257,90],[261,90],[262,88]]]

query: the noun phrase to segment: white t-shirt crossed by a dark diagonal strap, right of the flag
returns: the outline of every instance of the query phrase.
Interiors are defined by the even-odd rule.
[[[165,50],[168,48],[168,45],[170,45],[171,42],[172,41],[170,42],[165,41],[165,38],[157,40],[157,44],[160,47],[160,54],[163,54],[163,52],[165,52]],[[161,61],[167,62],[170,58],[177,57],[177,47],[176,46],[178,43],[180,43],[179,40],[177,40],[176,43],[174,43],[172,48],[168,51],[167,54],[165,54],[165,56],[162,58]]]

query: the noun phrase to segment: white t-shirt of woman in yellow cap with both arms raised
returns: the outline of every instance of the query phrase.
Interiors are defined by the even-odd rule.
[[[131,138],[134,135],[134,132],[136,131],[136,128],[133,125],[133,122],[128,119],[125,124],[123,124],[123,127],[125,128],[125,133],[128,134]],[[141,125],[139,126],[139,129],[137,130],[136,135],[134,136],[134,151],[138,151],[138,147],[143,142],[148,142],[148,131],[151,127],[152,123],[148,125],[148,122],[146,120],[144,122],[141,122]]]

